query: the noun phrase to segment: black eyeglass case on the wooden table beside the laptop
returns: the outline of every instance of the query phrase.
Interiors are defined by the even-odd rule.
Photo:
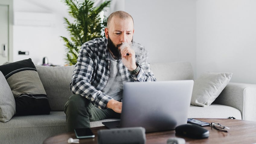
[[[205,139],[209,137],[209,131],[195,124],[183,124],[175,128],[175,134],[193,139]]]

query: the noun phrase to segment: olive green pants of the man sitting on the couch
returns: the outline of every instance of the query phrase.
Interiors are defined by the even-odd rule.
[[[90,121],[108,118],[120,118],[120,114],[112,109],[101,110],[95,107],[87,98],[81,95],[72,95],[65,104],[66,124],[68,132],[76,128],[89,128]]]

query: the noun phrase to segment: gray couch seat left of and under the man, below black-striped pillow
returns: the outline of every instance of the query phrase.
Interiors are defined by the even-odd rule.
[[[104,126],[106,119],[90,122],[91,127]],[[49,115],[14,116],[8,123],[0,123],[0,143],[35,144],[61,133],[67,133],[64,111],[51,111]],[[28,142],[29,141],[29,142]]]

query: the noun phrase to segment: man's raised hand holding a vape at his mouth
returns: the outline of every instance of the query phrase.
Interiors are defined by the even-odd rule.
[[[130,45],[128,43],[123,43],[123,45],[120,47],[120,51],[121,51],[123,65],[126,66],[126,68],[130,71],[133,71],[134,69],[136,69],[137,66],[136,66],[135,52],[133,49],[131,49]]]

